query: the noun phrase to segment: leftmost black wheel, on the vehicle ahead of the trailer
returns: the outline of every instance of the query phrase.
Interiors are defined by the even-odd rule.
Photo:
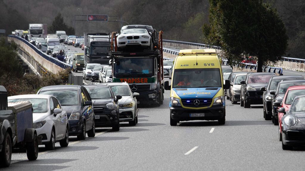
[[[2,151],[0,152],[0,166],[9,167],[12,159],[12,142],[9,134],[6,132],[2,143]]]

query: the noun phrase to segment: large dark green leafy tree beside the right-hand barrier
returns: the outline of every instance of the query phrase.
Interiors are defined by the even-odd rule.
[[[281,59],[287,49],[286,29],[277,11],[257,0],[210,0],[210,25],[203,26],[206,43],[221,46],[228,61],[245,57],[263,65]]]

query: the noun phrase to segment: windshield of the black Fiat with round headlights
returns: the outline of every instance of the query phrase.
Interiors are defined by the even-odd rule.
[[[108,87],[92,86],[86,87],[91,99],[111,99],[113,98]]]

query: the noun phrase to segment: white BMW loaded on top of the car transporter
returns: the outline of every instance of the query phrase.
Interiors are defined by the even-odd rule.
[[[151,36],[146,29],[126,29],[121,34],[117,34],[117,47],[126,45],[141,45],[149,47]]]

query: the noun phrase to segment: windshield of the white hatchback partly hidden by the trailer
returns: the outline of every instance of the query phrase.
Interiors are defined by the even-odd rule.
[[[47,113],[48,112],[48,99],[27,98],[27,99],[10,99],[8,103],[17,103],[29,101],[33,106],[33,113]]]

